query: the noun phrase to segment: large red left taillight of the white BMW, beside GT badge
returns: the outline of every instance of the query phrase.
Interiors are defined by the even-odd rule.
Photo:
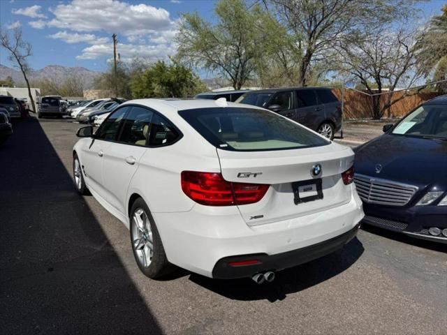
[[[232,183],[216,172],[182,172],[182,190],[189,198],[207,206],[253,204],[263,198],[269,185]]]

